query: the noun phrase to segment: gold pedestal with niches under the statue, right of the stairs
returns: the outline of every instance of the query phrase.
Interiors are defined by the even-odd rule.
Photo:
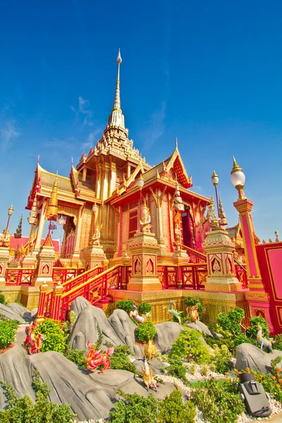
[[[127,289],[138,292],[161,290],[157,276],[159,245],[154,233],[135,233],[134,239],[128,241],[128,250],[132,253],[132,274]]]

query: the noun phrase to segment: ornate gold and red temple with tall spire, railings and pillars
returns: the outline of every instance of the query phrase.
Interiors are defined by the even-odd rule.
[[[216,215],[213,197],[191,190],[177,140],[171,156],[154,167],[133,147],[121,110],[120,53],[117,64],[114,106],[97,145],[82,153],[68,177],[38,162],[26,207],[29,238],[20,242],[21,221],[12,242],[8,223],[0,234],[0,289],[27,307],[39,305],[39,318],[65,319],[71,302],[83,295],[109,312],[124,298],[148,301],[158,322],[168,318],[169,304],[184,310],[184,298],[197,296],[206,305],[206,321],[238,305],[246,324],[251,314],[261,315],[278,331],[282,297],[275,287],[282,245],[277,235],[273,282],[267,245],[259,245],[252,202],[243,192],[242,169],[234,159],[240,223],[225,229],[217,191]],[[215,172],[212,178],[216,186]],[[52,221],[63,225],[62,245],[55,245],[50,230],[42,239],[46,221],[49,229]],[[271,246],[267,251],[272,254]],[[271,301],[278,311],[271,311]]]

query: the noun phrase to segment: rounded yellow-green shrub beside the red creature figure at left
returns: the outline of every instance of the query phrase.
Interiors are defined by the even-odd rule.
[[[64,352],[66,349],[66,337],[63,333],[61,324],[53,319],[45,319],[35,326],[35,335],[41,333],[44,336],[42,340],[42,353],[46,351]]]

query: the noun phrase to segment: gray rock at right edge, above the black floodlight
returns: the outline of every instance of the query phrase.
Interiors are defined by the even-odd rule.
[[[279,356],[281,356],[282,360],[282,351],[274,350],[273,354],[269,354],[260,350],[255,345],[243,343],[236,348],[235,368],[245,370],[246,367],[249,367],[251,370],[266,374],[271,370],[271,360]],[[281,364],[282,361],[277,367],[281,367]]]

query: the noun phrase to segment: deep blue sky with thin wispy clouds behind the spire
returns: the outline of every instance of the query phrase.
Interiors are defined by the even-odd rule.
[[[178,147],[194,189],[215,169],[238,221],[232,156],[246,175],[261,240],[281,232],[282,4],[273,1],[6,1],[0,17],[0,228],[25,210],[37,155],[68,176],[95,145],[114,102],[149,164]],[[58,232],[59,233],[59,232]],[[54,234],[54,238],[56,235]]]

